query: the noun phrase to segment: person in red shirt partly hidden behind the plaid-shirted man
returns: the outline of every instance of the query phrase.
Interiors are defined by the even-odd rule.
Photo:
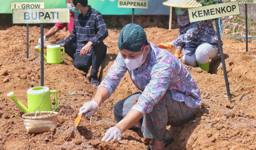
[[[56,23],[54,27],[52,27],[45,35],[44,35],[44,41],[48,39],[49,37],[53,36],[55,33],[57,33],[59,30],[63,29],[64,27],[68,26],[68,30],[70,34],[73,30],[74,25],[74,15],[75,13],[72,11],[72,6],[70,5],[70,0],[66,0],[66,5],[70,9],[70,23]],[[65,40],[61,40],[58,42],[58,44],[62,44]],[[41,45],[41,38],[38,39],[38,43]],[[65,47],[65,52],[74,59],[74,54],[76,52],[77,44],[74,43],[71,46]]]

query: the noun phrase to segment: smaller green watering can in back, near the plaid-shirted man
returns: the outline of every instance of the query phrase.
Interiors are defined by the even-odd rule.
[[[41,53],[41,46],[38,45],[35,47]],[[61,59],[60,50],[63,50],[63,59]],[[65,48],[60,47],[59,45],[47,45],[46,56],[44,55],[44,60],[48,64],[60,64],[61,61],[65,60]]]

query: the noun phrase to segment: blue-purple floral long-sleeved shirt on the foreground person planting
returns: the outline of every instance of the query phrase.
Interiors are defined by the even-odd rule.
[[[133,84],[143,91],[132,109],[140,111],[143,116],[153,110],[167,90],[172,93],[173,100],[185,102],[191,108],[199,107],[200,91],[186,67],[170,52],[152,43],[150,46],[147,62],[132,71],[127,69],[119,53],[99,88],[107,88],[111,95],[128,70]]]

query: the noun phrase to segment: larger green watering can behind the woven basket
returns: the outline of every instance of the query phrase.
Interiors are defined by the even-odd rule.
[[[22,103],[20,103],[15,97],[14,92],[10,92],[7,94],[18,106],[22,109],[22,111],[26,114],[28,112],[34,112],[38,106],[38,111],[53,111],[52,102],[51,102],[51,94],[54,93],[55,96],[55,105],[58,107],[58,97],[57,91],[50,91],[48,87],[33,87],[27,90],[28,96],[28,108],[26,108]],[[40,102],[41,101],[41,102]],[[58,108],[56,108],[58,109]]]

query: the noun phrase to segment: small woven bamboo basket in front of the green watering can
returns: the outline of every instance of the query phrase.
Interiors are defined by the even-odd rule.
[[[35,117],[34,112],[30,112],[27,114],[22,115],[22,118],[24,120],[24,125],[29,133],[42,133],[42,132],[48,132],[51,130],[51,127],[57,128],[58,123],[58,112],[53,111],[41,111],[37,112],[37,115]]]

